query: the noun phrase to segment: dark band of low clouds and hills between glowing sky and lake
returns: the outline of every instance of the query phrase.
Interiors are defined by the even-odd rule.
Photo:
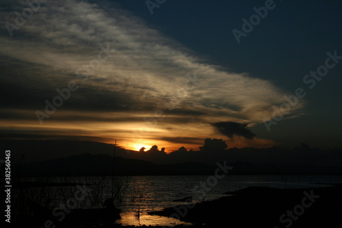
[[[26,164],[29,175],[111,175],[114,145],[101,142],[4,140],[12,164]],[[116,147],[117,175],[211,175],[217,162],[233,166],[232,174],[342,173],[339,149],[321,151],[300,144],[294,149],[226,149],[218,139],[206,139],[198,151],[181,147],[165,153],[156,145],[129,151]],[[25,160],[24,160],[25,158]]]

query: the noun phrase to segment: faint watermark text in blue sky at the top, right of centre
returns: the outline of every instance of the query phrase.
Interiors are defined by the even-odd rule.
[[[241,37],[246,37],[247,34],[249,34],[254,29],[254,26],[259,25],[261,19],[264,19],[267,16],[268,11],[274,10],[274,8],[276,8],[276,4],[274,3],[274,1],[266,0],[265,6],[261,6],[260,8],[253,8],[254,12],[256,12],[257,14],[252,14],[249,18],[249,21],[247,21],[246,18],[242,18],[242,31],[240,31],[239,29],[232,30],[237,43],[239,44],[241,42]]]

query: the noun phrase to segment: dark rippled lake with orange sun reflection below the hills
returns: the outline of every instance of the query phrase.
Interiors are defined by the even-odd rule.
[[[148,212],[162,210],[165,207],[184,204],[175,201],[192,197],[192,203],[210,201],[226,197],[225,192],[232,192],[250,186],[265,186],[272,188],[319,188],[332,183],[342,183],[341,175],[226,175],[222,179],[214,176],[129,176],[129,177],[50,177],[49,179],[31,179],[51,183],[86,183],[89,189],[87,197],[79,201],[77,207],[102,207],[105,199],[111,198],[111,192],[120,194],[120,203],[116,207],[122,210],[116,223],[121,225],[186,225],[175,218],[151,216]],[[118,183],[111,189],[111,183]],[[84,188],[84,186],[82,187]],[[19,188],[18,191],[21,189]],[[38,201],[40,195],[45,206],[51,210],[58,205],[73,201],[77,192],[76,186],[54,186],[50,188],[25,188],[25,195]],[[14,192],[14,195],[20,195]],[[36,197],[36,198],[34,198]],[[47,204],[47,205],[46,205]],[[64,207],[64,206],[63,206]]]

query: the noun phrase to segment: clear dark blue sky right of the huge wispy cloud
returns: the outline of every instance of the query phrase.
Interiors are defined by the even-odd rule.
[[[276,7],[239,44],[232,30],[241,30],[241,19],[249,19],[265,1],[166,1],[152,15],[143,3],[119,2],[212,64],[267,79],[290,92],[304,87],[304,75],[324,64],[327,51],[342,55],[341,1],[274,1]],[[254,127],[258,136],[285,144],[298,137],[291,145],[304,140],[341,146],[341,65],[313,90],[306,89],[306,115],[280,121],[270,133],[263,125]],[[290,139],[282,138],[290,134]]]

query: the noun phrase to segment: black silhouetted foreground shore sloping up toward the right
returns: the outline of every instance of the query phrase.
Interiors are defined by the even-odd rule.
[[[226,197],[195,204],[179,204],[149,215],[172,216],[193,225],[170,227],[332,227],[340,224],[342,184],[318,188],[248,187]],[[230,196],[228,196],[230,195]],[[176,216],[178,214],[178,217]],[[44,227],[44,221],[15,218],[13,225]],[[58,227],[163,227],[114,223],[66,224]]]

